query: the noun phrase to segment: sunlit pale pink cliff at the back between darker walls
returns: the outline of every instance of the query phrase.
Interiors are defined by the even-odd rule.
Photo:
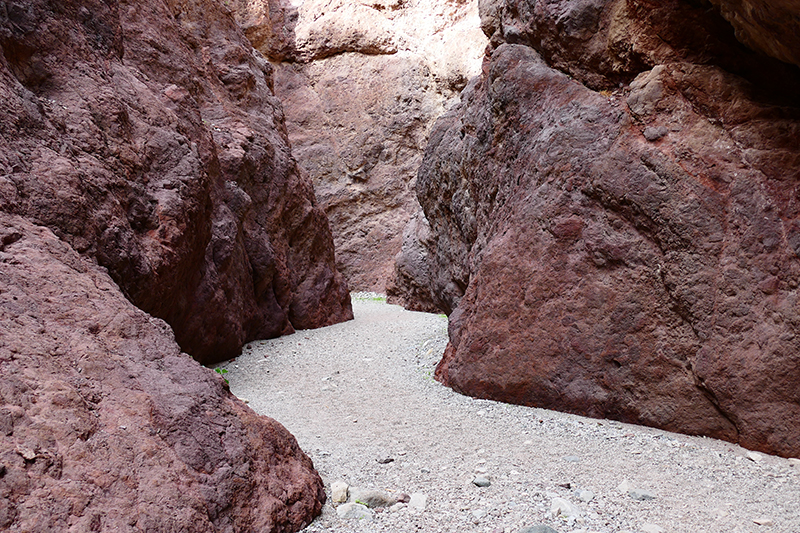
[[[296,4],[296,2],[295,2]],[[313,178],[350,288],[385,292],[433,122],[478,74],[477,0],[240,0],[274,61],[292,151]]]

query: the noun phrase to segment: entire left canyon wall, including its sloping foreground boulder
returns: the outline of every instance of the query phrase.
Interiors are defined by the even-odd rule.
[[[0,51],[0,529],[302,528],[311,461],[184,353],[352,317],[269,63],[208,0],[4,2]]]

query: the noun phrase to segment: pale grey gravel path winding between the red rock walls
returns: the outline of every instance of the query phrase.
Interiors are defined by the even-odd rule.
[[[458,395],[432,379],[444,316],[363,295],[353,308],[353,321],[253,342],[224,365],[233,393],[286,426],[325,481],[328,503],[304,531],[800,533],[800,466],[713,439]],[[340,518],[335,481],[414,497]],[[655,498],[634,499],[647,495],[623,482]]]

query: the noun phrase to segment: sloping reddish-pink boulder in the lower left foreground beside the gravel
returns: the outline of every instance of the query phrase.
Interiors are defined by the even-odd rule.
[[[49,229],[0,213],[0,529],[296,531],[324,488],[283,426]]]

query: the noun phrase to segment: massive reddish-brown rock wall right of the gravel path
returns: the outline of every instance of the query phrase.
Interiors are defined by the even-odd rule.
[[[692,2],[481,13],[406,247],[451,312],[437,378],[796,456],[798,70]]]

